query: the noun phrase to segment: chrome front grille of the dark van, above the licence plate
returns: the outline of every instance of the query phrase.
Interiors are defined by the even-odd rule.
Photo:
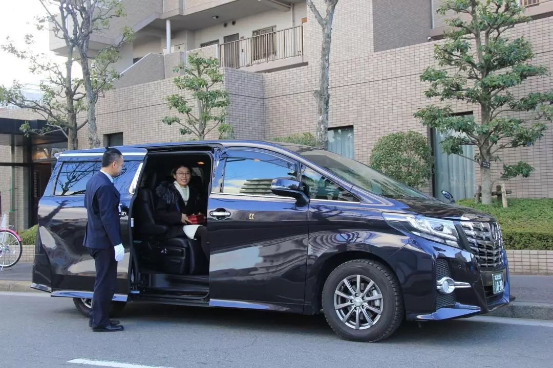
[[[481,268],[503,264],[503,237],[497,222],[461,222],[461,226]]]

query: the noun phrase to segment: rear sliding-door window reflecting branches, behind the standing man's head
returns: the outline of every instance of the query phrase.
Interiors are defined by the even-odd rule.
[[[113,185],[124,191],[129,188],[140,162],[126,161],[118,177],[113,179]],[[102,168],[100,161],[64,162],[60,169],[55,195],[84,195],[86,183]]]

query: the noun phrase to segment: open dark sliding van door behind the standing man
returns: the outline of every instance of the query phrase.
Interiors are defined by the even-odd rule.
[[[113,300],[124,302],[129,294],[131,263],[129,207],[147,151],[143,148],[118,148],[123,153],[124,164],[113,185],[121,193],[119,216],[125,256],[118,263]],[[105,150],[97,149],[58,156],[58,163],[39,202],[32,285],[35,289],[50,291],[52,296],[92,298],[96,267],[82,244],[87,223],[84,199],[86,183],[101,169],[103,152]]]

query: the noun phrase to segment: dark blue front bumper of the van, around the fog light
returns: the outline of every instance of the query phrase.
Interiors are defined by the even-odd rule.
[[[431,293],[431,297],[435,300],[434,311],[409,311],[410,308],[406,306],[406,318],[411,321],[432,321],[471,317],[508,305],[510,302],[509,264],[507,253],[504,249],[502,252],[504,262],[502,266],[493,270],[478,269],[474,257],[468,252],[462,252],[462,254],[458,250],[455,254],[446,250],[438,252],[436,262],[440,261],[442,264],[446,262],[451,279],[465,282],[470,287],[455,289],[447,297],[434,287]],[[435,273],[439,273],[437,269]],[[492,274],[495,273],[502,273],[504,282],[503,292],[496,295],[493,294],[492,286]],[[439,278],[440,275],[437,277]]]

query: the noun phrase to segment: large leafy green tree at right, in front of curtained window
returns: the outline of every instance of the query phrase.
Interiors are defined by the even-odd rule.
[[[553,92],[532,92],[515,96],[511,88],[526,79],[547,74],[547,68],[533,66],[534,57],[529,41],[523,37],[509,39],[505,31],[531,19],[521,15],[524,7],[518,0],[446,0],[439,8],[463,17],[448,19],[452,27],[445,42],[435,45],[435,58],[440,67],[427,68],[421,81],[430,82],[425,91],[428,98],[461,100],[479,106],[479,121],[473,117],[453,114],[450,105],[435,105],[419,109],[414,116],[425,126],[442,133],[454,131],[441,142],[447,154],[462,155],[462,147],[474,145],[478,152],[474,161],[479,164],[482,180],[482,203],[492,200],[492,162],[501,161],[499,153],[505,148],[528,147],[540,140],[546,130],[544,120],[551,121]],[[534,170],[528,163],[503,165],[500,179],[521,175],[528,177]]]

